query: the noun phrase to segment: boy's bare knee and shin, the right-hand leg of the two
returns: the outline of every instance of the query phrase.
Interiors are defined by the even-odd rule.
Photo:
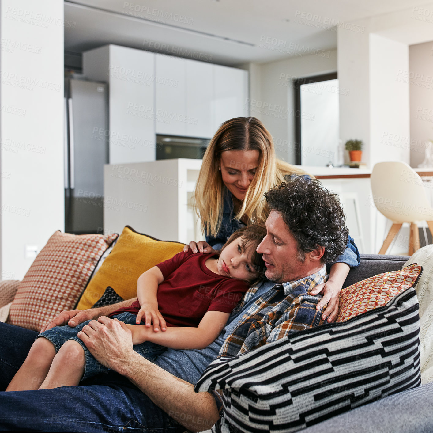
[[[55,355],[47,377],[39,389],[78,385],[84,374],[84,349],[75,340],[68,340]]]

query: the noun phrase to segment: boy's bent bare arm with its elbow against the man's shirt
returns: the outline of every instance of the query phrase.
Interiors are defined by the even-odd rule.
[[[134,329],[136,341],[150,341],[172,349],[204,349],[220,335],[229,315],[221,311],[208,311],[197,328],[168,326],[165,332],[154,332],[144,325],[131,326],[138,328]],[[130,326],[128,328],[131,329]]]

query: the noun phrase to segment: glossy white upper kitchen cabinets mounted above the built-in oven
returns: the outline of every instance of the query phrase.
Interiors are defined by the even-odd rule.
[[[155,57],[156,133],[211,138],[225,120],[249,115],[248,72],[197,60]]]

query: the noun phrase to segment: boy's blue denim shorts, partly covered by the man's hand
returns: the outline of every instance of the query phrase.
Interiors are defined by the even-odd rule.
[[[136,325],[137,316],[135,314],[125,312],[125,313],[117,314],[116,316],[113,316],[113,318],[114,317],[116,317],[117,320],[120,320],[120,322],[124,322],[128,325]],[[83,377],[81,378],[82,381],[98,373],[108,373],[108,371],[110,370],[109,368],[100,364],[89,352],[89,349],[86,347],[84,342],[82,342],[77,337],[78,332],[80,332],[81,329],[83,329],[83,327],[87,325],[89,322],[90,320],[87,320],[86,322],[80,323],[74,328],[71,328],[71,326],[68,325],[56,326],[55,328],[48,329],[47,331],[44,331],[36,336],[36,338],[45,337],[50,342],[52,342],[56,352],[58,352],[61,346],[68,340],[75,340],[76,342],[80,343],[84,349],[84,361],[85,361],[84,374]],[[140,325],[145,325],[145,322],[142,321]],[[141,344],[137,344],[133,346],[133,348],[135,352],[139,353],[144,358],[149,359],[149,361],[154,361],[158,355],[161,355],[162,352],[164,352],[167,349],[164,346],[151,343],[149,341],[146,341]]]

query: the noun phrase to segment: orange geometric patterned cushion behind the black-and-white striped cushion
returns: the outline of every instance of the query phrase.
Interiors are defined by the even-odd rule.
[[[397,293],[413,287],[423,267],[411,264],[402,270],[385,272],[346,287],[339,294],[336,322],[345,322],[366,311],[382,307]]]

